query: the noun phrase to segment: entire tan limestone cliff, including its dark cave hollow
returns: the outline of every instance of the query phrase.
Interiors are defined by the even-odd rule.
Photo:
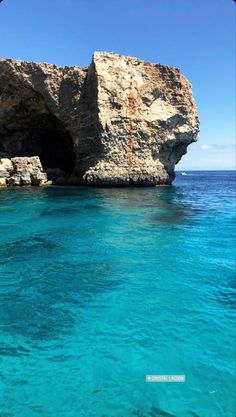
[[[38,155],[69,183],[170,184],[198,127],[177,68],[101,52],[88,69],[0,60],[0,157]]]

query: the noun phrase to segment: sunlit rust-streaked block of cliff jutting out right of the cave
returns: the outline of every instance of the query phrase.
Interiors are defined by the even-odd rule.
[[[170,183],[174,166],[195,141],[191,86],[176,68],[119,55],[95,54],[98,125],[89,183]]]

